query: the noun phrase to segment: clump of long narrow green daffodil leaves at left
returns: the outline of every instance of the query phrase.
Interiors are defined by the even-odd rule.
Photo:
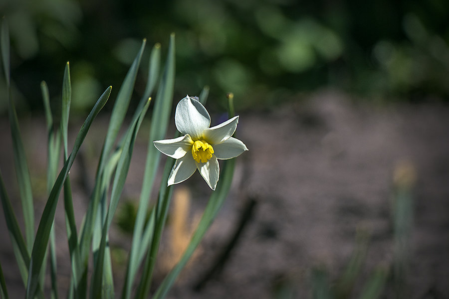
[[[42,214],[35,215],[31,179],[25,157],[25,149],[22,144],[14,101],[11,95],[9,31],[6,21],[2,22],[1,58],[6,78],[6,96],[8,98],[9,107],[8,116],[11,127],[17,182],[22,203],[25,237],[23,237],[22,232],[19,229],[19,224],[12,209],[11,201],[4,186],[1,173],[0,195],[4,218],[13,244],[13,252],[26,290],[27,299],[36,297],[44,298],[45,290],[43,287],[45,285],[45,265],[47,264],[48,253],[50,258],[51,297],[59,297],[56,243],[53,222],[56,213],[56,205],[62,189],[67,242],[70,254],[67,258],[71,263],[71,279],[67,298],[114,298],[111,253],[108,243],[109,229],[128,174],[137,133],[149,108],[150,102],[154,102],[151,129],[148,136],[145,173],[132,236],[132,246],[128,258],[126,278],[123,282],[123,292],[121,296],[123,299],[131,298],[133,294],[134,298],[138,299],[148,297],[153,269],[156,263],[156,256],[172,195],[172,187],[167,186],[166,183],[170,170],[174,164],[174,160],[169,158],[164,166],[164,174],[159,187],[158,199],[154,205],[149,205],[150,194],[160,164],[160,152],[153,146],[152,141],[165,138],[172,110],[175,82],[175,35],[172,34],[170,37],[167,60],[161,75],[161,46],[160,44],[156,44],[152,48],[145,91],[134,111],[129,126],[124,128],[124,135],[121,138],[118,138],[119,130],[121,129],[125,115],[129,110],[130,99],[135,88],[136,77],[145,50],[145,45],[146,40],[144,39],[115,99],[107,134],[98,161],[94,188],[89,199],[88,208],[83,217],[82,225],[78,230],[75,224],[69,171],[95,116],[109,98],[111,87],[107,88],[97,100],[90,114],[86,118],[86,121],[79,130],[73,149],[69,152],[67,132],[72,95],[69,63],[67,62],[64,71],[60,105],[61,120],[59,125],[55,124],[53,121],[48,87],[45,82],[42,82],[41,91],[45,107],[48,135],[48,198]],[[151,95],[154,93],[157,85],[158,88],[155,100],[150,101]],[[205,103],[207,100],[208,90],[208,88],[203,89],[203,92],[200,95],[200,101],[202,103]],[[62,169],[58,171],[61,148],[64,165]],[[186,265],[187,261],[192,256],[193,251],[202,240],[228,193],[233,174],[233,167],[233,161],[226,161],[222,171],[222,179],[220,180],[217,190],[211,195],[209,203],[204,211],[203,218],[201,219],[186,252],[180,262],[159,286],[154,298],[163,298],[167,294],[178,274]],[[150,217],[147,217],[148,214]],[[34,227],[35,216],[39,219],[36,233]],[[88,278],[88,272],[90,272],[89,260],[91,257],[93,257],[93,268],[92,275]],[[141,270],[141,276],[138,275],[139,269]],[[8,298],[7,286],[3,278],[1,266],[0,292],[2,298]]]

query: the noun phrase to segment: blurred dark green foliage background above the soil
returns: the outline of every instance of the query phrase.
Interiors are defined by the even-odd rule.
[[[73,109],[84,111],[105,87],[118,91],[142,38],[148,60],[156,42],[166,52],[171,32],[177,98],[205,85],[211,104],[232,91],[238,110],[321,87],[381,101],[449,97],[447,0],[0,0],[0,15],[24,109],[41,108],[41,80],[60,94],[68,60]]]

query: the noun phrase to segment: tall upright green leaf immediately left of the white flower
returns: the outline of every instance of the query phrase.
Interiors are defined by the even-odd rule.
[[[159,45],[155,46],[153,50],[154,57],[152,55],[151,60],[159,61],[160,59],[159,47],[160,47]],[[152,66],[153,64],[150,66],[150,68]],[[152,73],[156,74],[157,73],[156,67],[155,66],[153,67],[155,68],[155,70],[152,71]],[[155,75],[153,77],[155,77]],[[128,261],[126,280],[122,293],[122,298],[124,299],[125,298],[129,299],[131,296],[131,287],[134,282],[138,266],[142,261],[142,259],[139,258],[140,254],[138,253],[142,250],[146,251],[146,248],[142,247],[141,241],[148,239],[142,239],[142,233],[144,231],[145,220],[147,217],[148,201],[150,199],[150,194],[160,159],[160,153],[154,147],[153,141],[163,139],[167,134],[167,127],[172,109],[174,85],[175,85],[175,35],[172,34],[170,36],[167,62],[165,64],[164,74],[162,76],[159,85],[159,90],[156,95],[155,106],[153,109],[153,115],[151,119],[150,135],[148,141],[148,152],[145,163],[142,191],[140,193],[139,207],[137,210],[136,221],[134,223],[133,241]],[[148,231],[146,237],[150,237]],[[145,245],[148,246],[147,244]]]

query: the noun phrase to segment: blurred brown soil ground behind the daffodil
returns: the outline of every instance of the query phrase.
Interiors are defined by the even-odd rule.
[[[5,119],[0,123],[0,167],[19,211],[9,127]],[[106,124],[107,119],[101,117],[94,123],[71,170],[78,226]],[[44,127],[41,118],[21,120],[37,211],[45,197]],[[79,125],[71,127],[73,140]],[[124,201],[138,198],[147,132],[144,126],[139,134]],[[273,111],[244,113],[237,134],[249,151],[237,158],[225,205],[169,298],[269,299],[276,298],[279,286],[292,288],[295,298],[310,298],[311,270],[325,268],[331,281],[337,279],[354,250],[356,231],[361,229],[369,233],[370,241],[358,287],[351,295],[358,298],[370,273],[379,266],[389,269],[394,260],[393,176],[398,167],[405,167],[400,169],[406,169],[406,175],[416,176],[405,298],[449,298],[448,106],[355,105],[339,93],[322,92]],[[169,216],[155,285],[179,257],[209,194],[198,173],[176,187],[176,208]],[[188,199],[182,199],[185,197]],[[182,200],[188,204],[176,204]],[[228,258],[220,271],[205,279],[245,209],[250,213]],[[0,262],[10,298],[23,298],[4,220],[0,232]],[[64,298],[70,270],[62,203],[57,209],[56,233],[60,295]],[[114,229],[111,246],[118,282],[123,278],[123,256],[129,243],[129,234]],[[202,288],[194,290],[199,283]],[[117,285],[118,291],[121,284]],[[392,298],[390,287],[388,283],[383,298]]]

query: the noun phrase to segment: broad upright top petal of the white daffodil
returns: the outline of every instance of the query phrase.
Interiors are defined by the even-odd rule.
[[[175,124],[179,132],[198,140],[211,125],[211,117],[199,101],[187,96],[176,106]]]

